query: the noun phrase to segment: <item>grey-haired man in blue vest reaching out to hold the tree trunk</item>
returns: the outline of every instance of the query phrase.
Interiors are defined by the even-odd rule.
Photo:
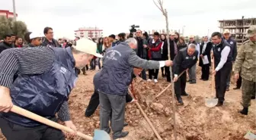
[[[143,69],[159,69],[171,66],[172,61],[146,61],[136,54],[136,39],[126,39],[119,45],[108,48],[103,58],[104,67],[101,70],[98,92],[101,106],[101,129],[110,132],[109,120],[113,131],[113,138],[123,138],[129,132],[122,132],[126,94],[130,85],[133,67]]]

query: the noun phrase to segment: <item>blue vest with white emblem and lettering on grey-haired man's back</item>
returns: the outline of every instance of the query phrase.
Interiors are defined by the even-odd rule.
[[[133,51],[126,43],[108,48],[103,58],[103,66],[100,74],[98,91],[110,95],[126,95],[130,85],[133,67],[128,58]]]

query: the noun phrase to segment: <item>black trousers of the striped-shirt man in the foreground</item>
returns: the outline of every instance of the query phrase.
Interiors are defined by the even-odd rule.
[[[56,118],[53,119],[56,122]],[[0,117],[0,128],[8,140],[65,140],[59,129],[50,126],[24,127],[11,123]]]

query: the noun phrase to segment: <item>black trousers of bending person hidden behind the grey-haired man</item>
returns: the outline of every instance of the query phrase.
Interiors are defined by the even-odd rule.
[[[133,98],[130,94],[126,94],[126,103],[132,101]],[[88,104],[88,107],[85,110],[85,116],[90,117],[92,114],[94,114],[95,110],[97,110],[98,105],[100,104],[99,100],[99,93],[97,89],[94,89],[94,94],[91,95],[90,102]]]

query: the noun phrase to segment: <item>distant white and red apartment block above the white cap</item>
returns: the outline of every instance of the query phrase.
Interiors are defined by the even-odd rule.
[[[98,27],[82,27],[75,30],[75,36],[80,38],[98,39],[103,36],[103,30],[99,29]]]

